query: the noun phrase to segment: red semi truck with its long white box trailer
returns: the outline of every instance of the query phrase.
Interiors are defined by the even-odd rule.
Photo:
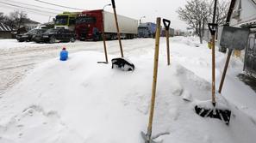
[[[132,18],[117,15],[119,29],[122,39],[134,39],[137,35],[138,21]],[[113,13],[103,9],[86,10],[78,15],[75,31],[77,39],[100,40],[102,33],[106,39],[116,39],[116,21]]]

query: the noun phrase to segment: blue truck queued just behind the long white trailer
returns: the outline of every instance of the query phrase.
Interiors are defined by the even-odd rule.
[[[156,32],[156,24],[153,22],[140,23],[138,38],[153,38]]]

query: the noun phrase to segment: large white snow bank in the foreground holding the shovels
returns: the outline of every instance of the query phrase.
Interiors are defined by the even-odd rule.
[[[102,59],[103,53],[84,51],[70,55],[66,62],[55,58],[31,71],[0,98],[0,142],[143,142],[140,131],[147,131],[153,54],[128,57],[135,65],[134,72],[97,64]],[[218,119],[198,116],[194,106],[210,99],[209,82],[182,64],[173,62],[167,67],[164,61],[165,57],[160,57],[153,135],[170,134],[158,140],[256,140],[255,120],[229,100],[229,126]],[[201,64],[206,63],[198,63],[198,67]],[[183,99],[188,97],[190,102]]]

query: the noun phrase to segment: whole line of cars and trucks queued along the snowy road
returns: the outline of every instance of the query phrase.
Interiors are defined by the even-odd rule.
[[[153,38],[155,24],[140,23],[126,16],[117,15],[122,39]],[[102,33],[106,39],[117,39],[115,16],[103,9],[85,10],[83,12],[63,12],[56,15],[53,29],[34,29],[17,35],[19,42],[35,41],[37,43],[74,42],[79,40],[101,40]]]

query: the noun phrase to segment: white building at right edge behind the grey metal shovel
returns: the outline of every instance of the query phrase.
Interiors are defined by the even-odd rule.
[[[244,60],[244,70],[256,75],[256,0],[232,0],[227,21],[231,27],[250,29],[246,51],[241,51],[240,57]]]

